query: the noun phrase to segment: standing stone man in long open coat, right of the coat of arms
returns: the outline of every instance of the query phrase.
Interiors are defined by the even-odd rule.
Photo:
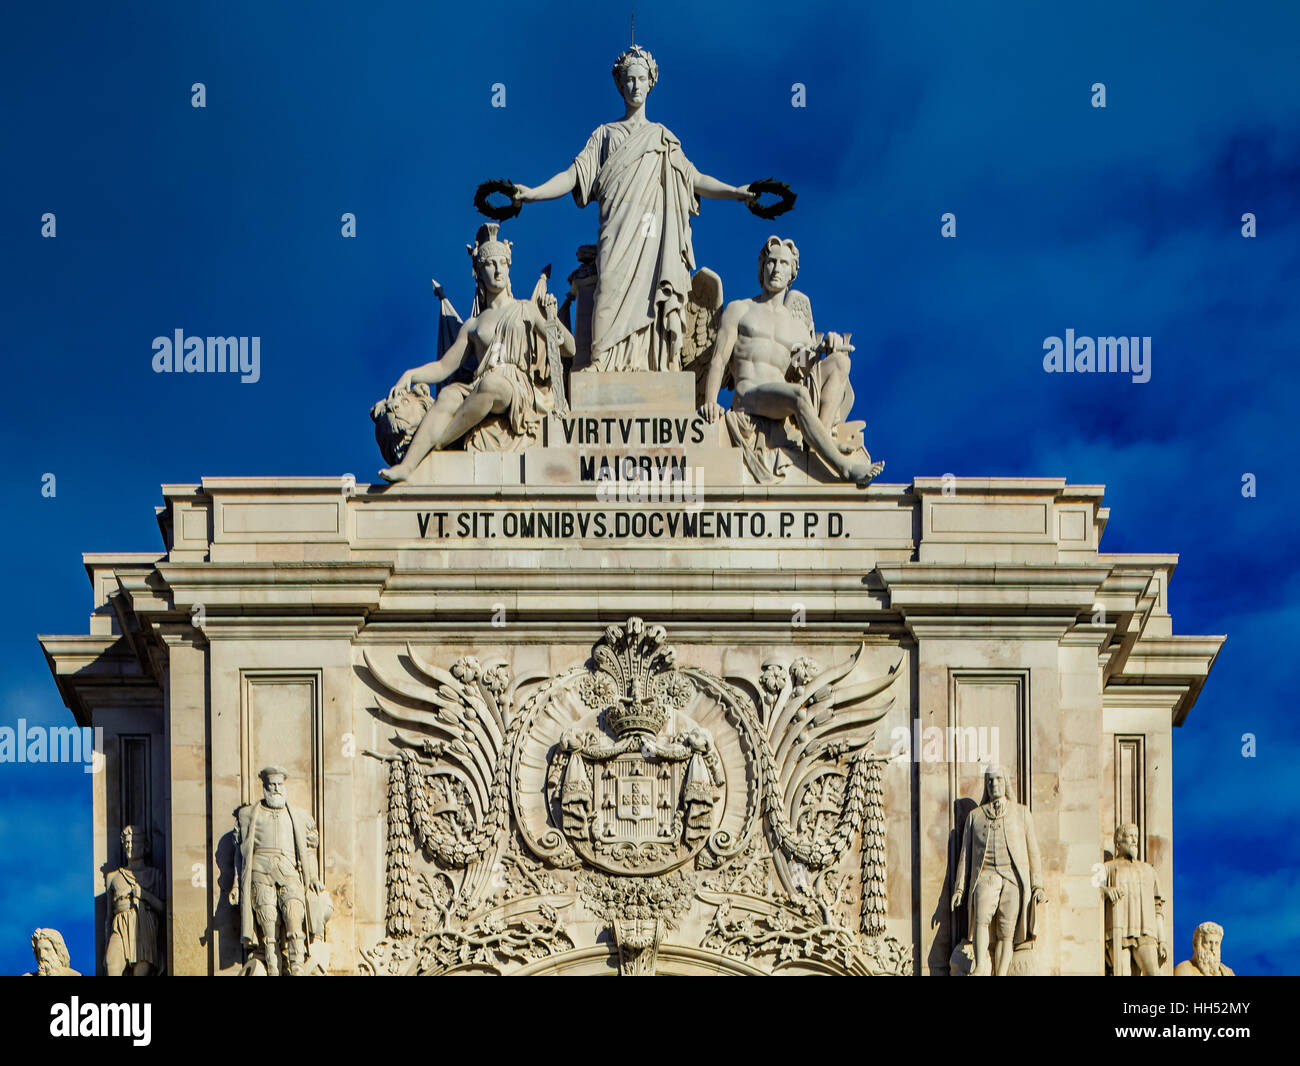
[[[1035,907],[1046,902],[1034,815],[1010,798],[1006,772],[984,771],[984,798],[966,818],[962,852],[953,879],[953,910],[968,896],[968,928],[975,949],[972,976],[1006,976],[1011,956],[1034,941]]]

